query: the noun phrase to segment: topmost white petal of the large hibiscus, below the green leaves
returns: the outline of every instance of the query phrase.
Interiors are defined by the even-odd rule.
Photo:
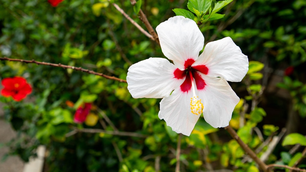
[[[156,27],[164,55],[173,60],[181,70],[185,60],[196,60],[204,46],[204,36],[196,22],[183,16],[175,16]]]

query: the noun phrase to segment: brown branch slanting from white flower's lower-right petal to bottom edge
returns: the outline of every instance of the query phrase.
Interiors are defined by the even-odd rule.
[[[237,135],[236,131],[230,127],[230,126],[227,126],[225,127],[224,129],[227,130],[227,132],[230,133],[230,135],[237,141],[237,143],[241,146],[241,148],[248,154],[250,155],[250,157],[259,165],[259,167],[267,172],[269,171],[268,167],[267,167],[267,164],[265,164],[263,161],[261,161],[258,156],[248,147],[247,144],[245,144],[241,139],[240,137]]]

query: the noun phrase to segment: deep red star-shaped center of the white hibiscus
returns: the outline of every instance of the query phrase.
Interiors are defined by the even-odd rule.
[[[191,58],[187,59],[184,64],[185,70],[175,69],[174,78],[183,79],[185,81],[181,84],[180,88],[182,92],[189,92],[191,90],[191,82],[193,77],[196,81],[196,88],[198,90],[203,90],[205,88],[205,81],[201,77],[200,73],[207,75],[208,68],[205,65],[191,66],[195,61]]]

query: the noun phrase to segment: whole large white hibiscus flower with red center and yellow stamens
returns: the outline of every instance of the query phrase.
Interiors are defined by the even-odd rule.
[[[156,31],[163,54],[174,64],[149,58],[130,66],[126,80],[132,97],[163,98],[159,118],[187,136],[202,113],[215,128],[229,125],[239,97],[226,80],[243,79],[248,57],[230,37],[207,43],[199,56],[204,37],[196,22],[182,16],[169,18]]]

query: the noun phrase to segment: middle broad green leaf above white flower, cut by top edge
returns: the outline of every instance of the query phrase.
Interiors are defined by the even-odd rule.
[[[210,8],[210,5],[210,0],[189,0],[187,7],[191,12],[195,13],[198,18],[201,18]]]

